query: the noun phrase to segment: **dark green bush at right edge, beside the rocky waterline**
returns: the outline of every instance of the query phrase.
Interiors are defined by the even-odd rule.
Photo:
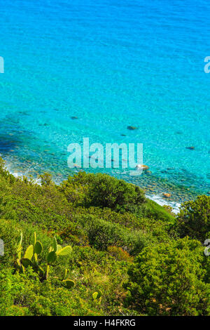
[[[210,196],[199,196],[195,201],[183,203],[177,226],[181,237],[188,235],[202,243],[210,238]]]

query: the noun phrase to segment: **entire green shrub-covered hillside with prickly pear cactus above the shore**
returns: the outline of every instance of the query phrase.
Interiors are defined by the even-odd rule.
[[[210,315],[210,197],[170,209],[80,172],[55,185],[0,161],[0,315]]]

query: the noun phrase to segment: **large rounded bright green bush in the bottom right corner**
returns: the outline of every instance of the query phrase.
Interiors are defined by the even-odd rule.
[[[190,239],[143,249],[128,272],[127,305],[146,315],[207,315],[203,251]]]

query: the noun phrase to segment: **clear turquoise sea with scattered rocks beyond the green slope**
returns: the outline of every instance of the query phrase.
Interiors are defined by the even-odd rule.
[[[10,171],[62,180],[76,171],[67,146],[89,137],[143,143],[150,172],[104,171],[156,199],[210,192],[209,18],[208,0],[1,1],[0,154]]]

